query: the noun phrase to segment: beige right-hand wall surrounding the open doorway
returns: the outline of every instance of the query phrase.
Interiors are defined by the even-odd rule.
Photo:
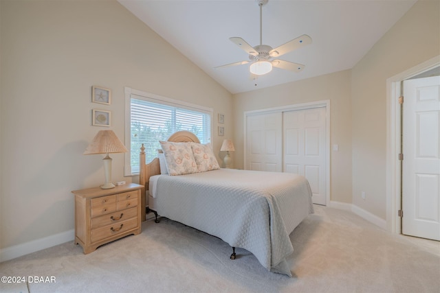
[[[439,3],[415,3],[352,69],[353,204],[382,219],[386,218],[386,80],[440,54]]]

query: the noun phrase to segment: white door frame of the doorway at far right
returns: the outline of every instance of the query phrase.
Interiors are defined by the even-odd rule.
[[[440,55],[427,60],[386,80],[386,229],[393,234],[401,234],[401,218],[397,211],[401,208],[401,114],[399,97],[401,82],[425,71],[440,66]]]

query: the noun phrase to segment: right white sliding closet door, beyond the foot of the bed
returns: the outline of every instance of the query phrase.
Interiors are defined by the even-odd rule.
[[[326,108],[283,113],[284,172],[309,180],[313,202],[326,204]]]

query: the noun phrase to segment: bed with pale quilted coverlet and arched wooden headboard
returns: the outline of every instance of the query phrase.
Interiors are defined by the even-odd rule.
[[[236,247],[244,248],[267,270],[292,277],[286,261],[294,251],[289,234],[314,213],[308,181],[296,174],[212,168],[209,164],[206,171],[202,167],[201,172],[162,174],[164,168],[173,170],[167,147],[177,152],[176,145],[190,145],[197,158],[197,147],[206,145],[186,131],[176,132],[161,144],[165,160],[161,156],[160,161],[155,158],[146,164],[144,150],[140,153],[140,184],[147,190],[148,209],[221,238],[232,246],[231,259]]]

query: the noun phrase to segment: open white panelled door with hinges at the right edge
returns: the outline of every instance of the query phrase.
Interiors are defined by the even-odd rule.
[[[440,76],[404,81],[402,233],[440,240]]]

